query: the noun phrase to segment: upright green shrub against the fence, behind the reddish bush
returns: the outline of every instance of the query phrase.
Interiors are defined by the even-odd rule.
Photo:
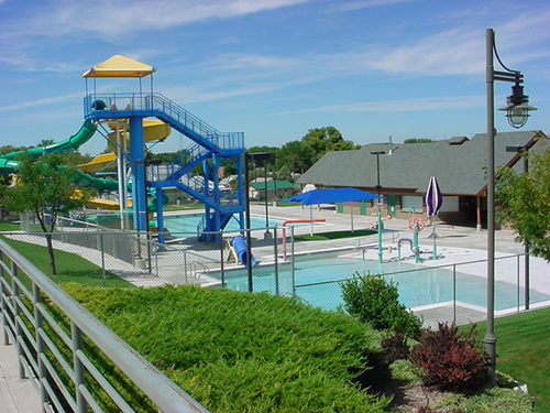
[[[343,309],[373,328],[389,329],[418,338],[422,322],[399,303],[397,284],[378,274],[359,272],[353,279],[342,282]]]

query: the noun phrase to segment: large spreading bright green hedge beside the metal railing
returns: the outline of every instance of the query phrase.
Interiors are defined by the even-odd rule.
[[[353,380],[378,334],[292,298],[195,286],[65,284],[212,412],[383,412]]]

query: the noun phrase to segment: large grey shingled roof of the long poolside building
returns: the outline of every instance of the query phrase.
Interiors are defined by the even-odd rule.
[[[506,152],[506,146],[532,143],[541,131],[497,133],[495,137],[495,164],[512,165],[517,153]],[[356,151],[329,152],[311,166],[297,183],[323,186],[354,186],[374,188],[377,184],[376,156],[380,155],[380,183],[395,192],[426,192],[430,176],[436,176],[444,195],[481,195],[485,191],[487,134],[472,139],[435,141],[428,143],[367,144]]]

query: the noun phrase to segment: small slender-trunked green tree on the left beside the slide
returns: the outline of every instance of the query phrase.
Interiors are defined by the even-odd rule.
[[[59,214],[82,207],[92,191],[81,188],[78,196],[73,186],[74,169],[63,165],[63,155],[51,153],[36,161],[23,159],[16,185],[4,188],[4,204],[9,210],[33,213],[45,232],[52,275],[57,273],[52,232]],[[47,219],[50,217],[50,219]]]

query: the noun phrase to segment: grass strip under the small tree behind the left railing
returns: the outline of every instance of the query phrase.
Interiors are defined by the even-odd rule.
[[[57,275],[50,275],[50,259],[46,247],[15,241],[3,237],[2,239],[57,284],[76,282],[89,286],[132,286],[128,281],[108,271],[103,274],[100,267],[92,264],[88,260],[77,254],[59,250],[55,250],[54,252]]]

